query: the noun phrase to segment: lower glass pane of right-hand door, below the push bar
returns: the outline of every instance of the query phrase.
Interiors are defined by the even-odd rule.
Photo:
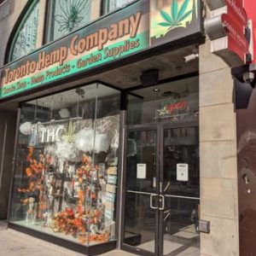
[[[165,197],[163,211],[164,255],[200,255],[199,201]]]

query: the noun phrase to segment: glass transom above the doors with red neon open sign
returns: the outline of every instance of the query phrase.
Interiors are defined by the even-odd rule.
[[[198,77],[132,91],[128,125],[198,120]]]

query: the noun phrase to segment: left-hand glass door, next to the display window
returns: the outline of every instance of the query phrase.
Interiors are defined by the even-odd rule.
[[[123,247],[158,255],[159,128],[128,130]]]

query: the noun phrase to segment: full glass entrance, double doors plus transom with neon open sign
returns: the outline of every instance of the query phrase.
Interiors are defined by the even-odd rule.
[[[124,243],[136,250],[200,255],[198,83],[198,77],[181,79],[134,90],[128,98]],[[159,140],[153,131],[138,131],[141,124],[158,127]],[[133,156],[131,142],[137,146]],[[137,178],[138,163],[147,163],[144,179]]]

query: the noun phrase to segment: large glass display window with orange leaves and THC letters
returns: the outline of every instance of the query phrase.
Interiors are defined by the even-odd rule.
[[[10,222],[86,246],[115,240],[119,91],[22,104]]]

